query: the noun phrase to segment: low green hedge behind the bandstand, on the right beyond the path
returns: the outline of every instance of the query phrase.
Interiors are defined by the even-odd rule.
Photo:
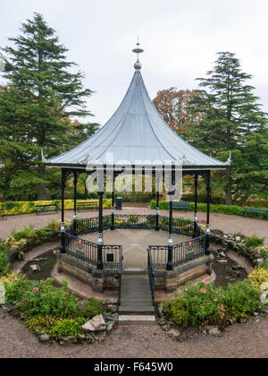
[[[151,209],[156,209],[156,201],[152,200],[150,203],[150,208]],[[204,211],[206,212],[206,204],[205,203],[197,203],[197,210],[198,211]],[[169,201],[160,201],[159,202],[159,209],[169,209]],[[194,202],[189,202],[189,211],[194,211],[195,210],[195,203]],[[230,214],[234,216],[244,216],[244,208],[240,206],[228,206],[228,205],[210,205],[210,211],[212,213],[222,213],[222,214]],[[248,217],[251,218],[259,218],[258,215],[250,214]],[[268,220],[268,215],[266,215],[266,218]]]

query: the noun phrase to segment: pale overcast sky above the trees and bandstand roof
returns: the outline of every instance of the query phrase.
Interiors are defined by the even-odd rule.
[[[175,86],[196,89],[215,54],[237,54],[268,112],[267,0],[8,0],[0,5],[0,46],[21,22],[42,13],[86,73],[94,120],[105,124],[121,103],[132,74],[137,36],[151,98]]]

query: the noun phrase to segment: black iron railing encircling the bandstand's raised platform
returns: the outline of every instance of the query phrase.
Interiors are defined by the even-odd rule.
[[[112,216],[104,216],[103,228],[110,229]],[[155,229],[155,215],[115,215],[115,229]],[[169,230],[169,218],[159,216],[159,228],[163,231]],[[185,235],[191,238],[187,242],[175,244],[172,246],[173,266],[179,266],[191,260],[195,260],[205,253],[205,231],[197,226],[197,237],[194,234],[194,222],[183,218],[173,218],[172,231],[177,235]],[[71,223],[65,231],[66,252],[72,256],[87,262],[92,267],[96,267],[97,262],[97,244],[82,239],[81,235],[91,234],[98,231],[98,218],[77,219],[76,226]],[[149,247],[151,254],[150,265],[154,269],[166,269],[168,246],[151,245]],[[111,269],[116,272],[121,267],[121,245],[103,245],[103,262],[105,269]],[[113,260],[113,261],[111,261]],[[149,262],[148,262],[149,265]]]

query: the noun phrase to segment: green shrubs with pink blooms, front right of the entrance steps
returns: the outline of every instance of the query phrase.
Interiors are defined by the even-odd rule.
[[[163,303],[164,316],[174,324],[217,324],[225,326],[230,319],[247,318],[263,308],[259,292],[248,279],[229,285],[226,290],[206,285],[189,286],[175,301]]]

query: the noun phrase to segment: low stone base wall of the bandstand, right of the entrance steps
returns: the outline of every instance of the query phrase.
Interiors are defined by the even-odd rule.
[[[172,293],[185,282],[212,273],[212,257],[200,257],[197,260],[189,261],[180,265],[172,271],[155,271],[155,290],[165,290]]]

